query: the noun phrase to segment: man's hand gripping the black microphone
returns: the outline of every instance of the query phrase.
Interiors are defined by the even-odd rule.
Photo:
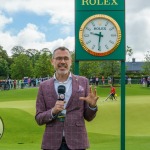
[[[60,111],[64,110],[64,104],[65,104],[65,101],[57,100],[55,103],[55,106],[52,108],[52,114],[56,115]]]

